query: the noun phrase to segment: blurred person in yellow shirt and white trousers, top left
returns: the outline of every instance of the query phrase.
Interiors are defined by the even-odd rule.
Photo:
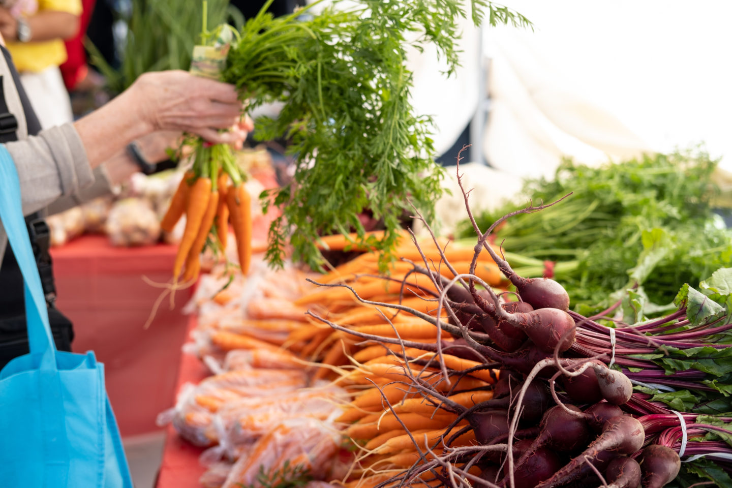
[[[41,128],[72,121],[59,66],[67,59],[64,40],[79,31],[81,0],[4,0],[2,5],[0,34]]]

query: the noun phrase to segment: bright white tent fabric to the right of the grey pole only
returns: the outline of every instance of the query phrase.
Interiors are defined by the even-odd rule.
[[[505,112],[534,116],[519,127],[542,126],[534,135],[554,135],[588,158],[583,144],[622,156],[704,142],[732,168],[732,2],[512,0],[509,7],[534,31],[485,30],[490,88],[498,90],[490,124],[510,123]],[[489,131],[489,146],[500,145],[490,140],[497,134]]]

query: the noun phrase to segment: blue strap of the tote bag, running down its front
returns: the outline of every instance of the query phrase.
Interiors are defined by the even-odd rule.
[[[4,145],[0,145],[0,184],[0,220],[25,284],[26,323],[31,355],[41,356],[38,379],[45,433],[45,477],[53,483],[48,486],[66,486],[70,454],[61,377],[56,364],[56,345],[48,323],[48,309],[31,249],[31,240],[23,219],[18,170]]]

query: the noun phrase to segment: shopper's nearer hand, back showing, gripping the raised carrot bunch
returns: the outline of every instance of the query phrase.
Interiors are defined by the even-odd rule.
[[[175,70],[146,73],[135,80],[130,91],[150,132],[190,132],[212,143],[236,146],[251,127],[250,121],[241,121],[242,102],[233,85]]]

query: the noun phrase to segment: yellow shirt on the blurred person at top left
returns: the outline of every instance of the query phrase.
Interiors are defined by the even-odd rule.
[[[39,10],[56,10],[81,15],[81,0],[38,0],[38,8],[32,12],[23,12],[23,16],[31,17]],[[40,72],[63,64],[67,57],[66,46],[60,39],[28,43],[8,42],[7,49],[19,72]]]

